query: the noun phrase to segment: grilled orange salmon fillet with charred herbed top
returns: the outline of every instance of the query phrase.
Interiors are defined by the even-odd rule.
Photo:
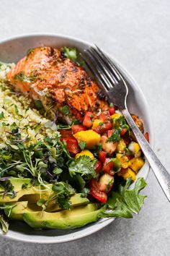
[[[99,87],[83,67],[66,58],[57,48],[40,47],[30,50],[7,74],[14,89],[40,100],[46,111],[50,109],[68,124],[82,121],[86,111],[96,114],[108,103]],[[63,114],[63,106],[68,106]],[[69,113],[68,113],[69,112]]]

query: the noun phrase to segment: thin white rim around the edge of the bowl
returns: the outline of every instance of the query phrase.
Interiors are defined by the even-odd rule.
[[[62,38],[62,39],[66,39],[66,40],[74,40],[77,43],[80,43],[80,44],[83,43],[86,46],[94,46],[93,43],[89,43],[86,40],[79,39],[79,38],[73,37],[71,35],[63,35],[63,34],[60,34],[60,33],[59,34],[58,33],[28,33],[28,34],[19,34],[17,36],[12,36],[10,38],[2,38],[0,40],[0,45],[2,43],[9,43],[10,41],[17,40],[17,39],[34,38],[34,37]],[[104,51],[104,52],[106,52],[106,51]],[[143,91],[141,90],[140,86],[138,85],[138,83],[134,80],[134,78],[131,76],[131,74],[128,72],[128,70],[125,69],[125,67],[123,67],[119,63],[119,61],[117,61],[117,59],[115,59],[115,57],[112,57],[110,54],[107,54],[107,55],[110,56],[115,61],[115,64],[117,64],[117,66],[125,74],[125,77],[127,77],[128,80],[131,82],[131,84],[134,86],[134,88],[136,88],[139,91],[139,94],[141,95],[141,98],[143,98],[143,102],[145,103],[147,114],[148,114],[148,116],[151,116],[151,112],[150,112],[150,109],[148,107],[148,102],[146,101],[146,97],[145,97]],[[151,119],[148,119],[147,121],[148,121],[149,127],[150,127],[151,132],[152,132],[151,135],[150,135],[150,144],[151,144],[151,146],[153,148],[153,146],[154,146],[153,123],[152,123]],[[148,166],[148,170],[146,170],[146,174],[144,175],[145,179],[148,176],[149,170],[150,170],[150,166]],[[38,244],[42,244],[42,243],[43,244],[58,244],[58,243],[63,243],[63,242],[71,242],[71,241],[76,240],[76,239],[81,239],[84,236],[89,236],[90,234],[93,234],[93,233],[99,231],[100,229],[103,229],[105,226],[109,225],[109,223],[112,223],[112,221],[114,221],[114,220],[115,220],[115,218],[104,218],[104,221],[102,221],[102,222],[100,222],[100,221],[95,222],[95,229],[93,229],[93,226],[87,226],[85,232],[83,232],[84,230],[79,230],[79,229],[76,230],[75,229],[75,233],[64,235],[64,236],[68,236],[65,239],[64,239],[63,236],[41,236],[41,237],[45,238],[45,239],[42,239],[42,241],[41,241],[41,240],[34,239],[34,237],[35,237],[34,234],[32,234],[32,236],[24,234],[24,236],[27,236],[27,238],[24,237],[24,236],[23,237],[22,236],[18,237],[15,234],[16,231],[9,231],[9,233],[7,233],[6,235],[4,235],[4,234],[2,234],[0,232],[0,236],[4,237],[6,239],[9,238],[9,239],[12,239],[12,240],[15,240],[15,241],[20,241],[20,242],[30,242],[30,243],[38,243]],[[10,233],[12,233],[12,234],[10,234]],[[20,233],[20,235],[22,235],[22,233]],[[38,236],[39,235],[37,235],[37,237]],[[57,241],[56,241],[56,237],[58,237]]]

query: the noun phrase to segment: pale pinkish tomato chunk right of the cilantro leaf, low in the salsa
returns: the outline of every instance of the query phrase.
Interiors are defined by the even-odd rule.
[[[114,178],[109,174],[103,174],[99,179],[99,190],[108,193],[113,186]]]

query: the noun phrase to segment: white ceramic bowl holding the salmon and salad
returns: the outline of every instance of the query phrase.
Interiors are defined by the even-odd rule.
[[[71,38],[65,35],[51,35],[51,34],[33,34],[23,35],[17,38],[11,38],[0,42],[0,61],[4,62],[16,62],[19,61],[30,48],[38,46],[74,46],[78,51],[83,51],[84,48],[90,46],[91,43],[87,43],[84,40]],[[115,61],[115,59],[114,59]],[[117,61],[115,61],[117,67],[125,74],[127,81],[129,82],[129,96],[128,96],[128,108],[131,113],[137,114],[144,121],[146,131],[150,134],[151,145],[153,145],[153,137],[151,133],[151,116],[149,115],[148,105],[146,99],[136,84],[136,82],[130,77],[130,74],[122,68]],[[146,161],[143,168],[139,171],[138,176],[147,177],[149,171],[149,165]],[[23,242],[35,242],[35,243],[61,243],[73,241],[84,236],[88,236],[109,223],[114,221],[113,218],[102,218],[96,223],[91,223],[88,226],[84,226],[81,229],[74,229],[72,231],[63,230],[42,230],[35,231],[27,226],[25,223],[14,221],[10,227],[9,232],[5,236],[9,239],[16,239]],[[1,231],[0,234],[2,235]]]

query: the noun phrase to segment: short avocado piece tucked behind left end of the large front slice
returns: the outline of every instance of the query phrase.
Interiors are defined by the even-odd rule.
[[[13,206],[12,208],[4,209],[4,213],[10,219],[14,219],[14,220],[18,220],[18,221],[23,220],[23,218],[22,218],[23,213],[42,211],[41,207],[39,207],[35,204],[31,204],[27,201],[9,202],[9,203],[6,203],[5,206]]]

